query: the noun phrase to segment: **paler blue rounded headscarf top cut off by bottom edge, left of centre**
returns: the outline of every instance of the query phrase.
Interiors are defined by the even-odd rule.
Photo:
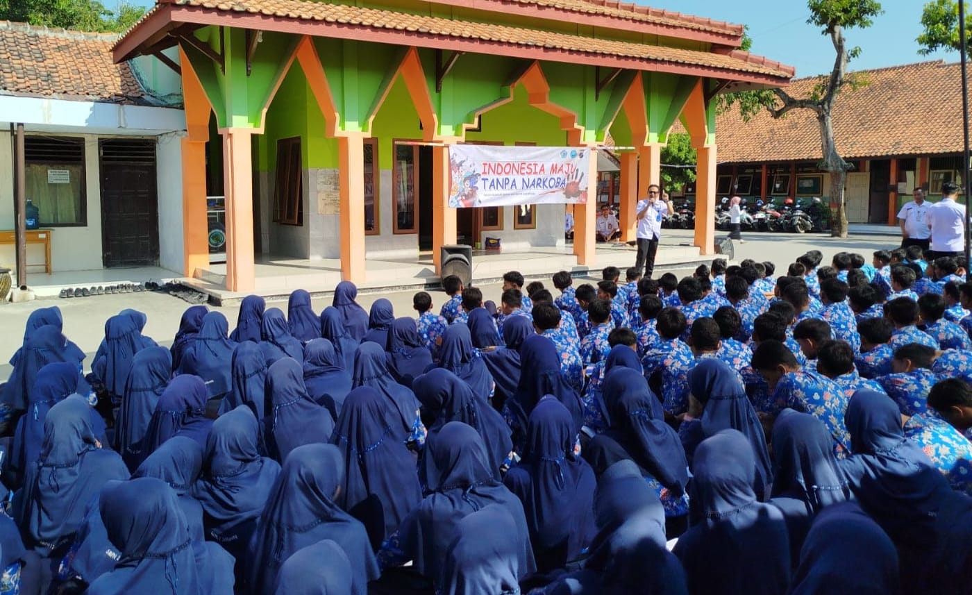
[[[298,549],[277,577],[276,595],[351,595],[351,562],[337,543],[321,540]]]

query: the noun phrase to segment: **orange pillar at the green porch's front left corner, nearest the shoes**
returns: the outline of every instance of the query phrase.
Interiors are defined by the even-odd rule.
[[[226,128],[223,176],[226,192],[226,289],[252,292],[256,287],[253,255],[253,157],[251,128]]]

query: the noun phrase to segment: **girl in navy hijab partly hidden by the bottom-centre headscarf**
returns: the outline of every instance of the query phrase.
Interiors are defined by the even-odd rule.
[[[508,539],[520,543],[517,569],[522,574],[517,579],[533,574],[537,566],[523,505],[493,478],[482,438],[466,424],[450,422],[426,448],[433,461],[431,493],[405,517],[399,531],[382,544],[378,553],[382,567],[411,560],[416,572],[430,578],[435,588],[442,588],[445,553],[459,521],[471,512],[496,504],[505,508],[516,523],[516,531]]]

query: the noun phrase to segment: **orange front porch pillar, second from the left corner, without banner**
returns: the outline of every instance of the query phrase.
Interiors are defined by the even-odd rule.
[[[337,148],[341,185],[341,279],[364,283],[364,136],[339,137]]]

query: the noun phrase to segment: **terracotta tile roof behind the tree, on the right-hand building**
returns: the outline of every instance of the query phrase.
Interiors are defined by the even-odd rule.
[[[960,152],[961,69],[957,63],[920,62],[859,71],[867,84],[847,89],[834,103],[834,137],[842,157],[892,157]],[[793,81],[786,92],[806,97],[822,77]],[[737,110],[715,122],[720,161],[821,158],[819,128],[810,110],[774,120],[762,112],[744,123]]]

